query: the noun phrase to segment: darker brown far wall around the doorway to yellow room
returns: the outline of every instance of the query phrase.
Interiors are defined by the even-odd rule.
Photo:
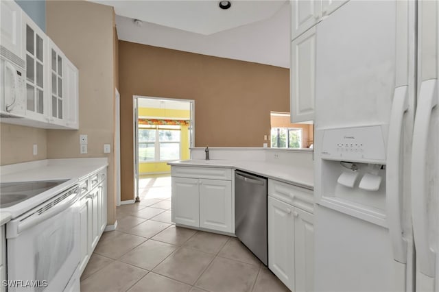
[[[132,199],[132,96],[195,100],[195,146],[262,147],[289,110],[289,70],[119,41],[122,200]]]

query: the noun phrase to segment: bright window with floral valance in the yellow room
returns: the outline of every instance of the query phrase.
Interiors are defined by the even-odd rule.
[[[179,125],[139,125],[139,161],[180,159]]]

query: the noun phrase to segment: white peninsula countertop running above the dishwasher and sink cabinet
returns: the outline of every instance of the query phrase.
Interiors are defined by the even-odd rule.
[[[180,160],[169,162],[176,167],[228,167],[248,171],[257,175],[265,176],[273,180],[280,180],[288,184],[302,186],[303,188],[314,188],[314,171],[311,167],[298,167],[294,165],[283,165],[281,163],[247,160]]]

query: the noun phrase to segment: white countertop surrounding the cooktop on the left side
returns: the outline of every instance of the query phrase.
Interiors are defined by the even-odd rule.
[[[107,167],[107,165],[107,158],[71,158],[38,160],[0,167],[0,182],[67,180],[67,182],[50,188],[48,191],[31,197],[19,204],[8,208],[1,208],[1,222],[3,223],[3,214],[9,214],[10,219],[14,219],[47,201],[47,199],[54,197],[54,195],[78,184],[82,178]],[[7,218],[6,215],[5,218]]]

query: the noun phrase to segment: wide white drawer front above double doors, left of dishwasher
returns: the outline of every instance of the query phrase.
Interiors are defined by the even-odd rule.
[[[171,167],[171,175],[178,176],[180,178],[232,180],[232,169],[217,167]]]

